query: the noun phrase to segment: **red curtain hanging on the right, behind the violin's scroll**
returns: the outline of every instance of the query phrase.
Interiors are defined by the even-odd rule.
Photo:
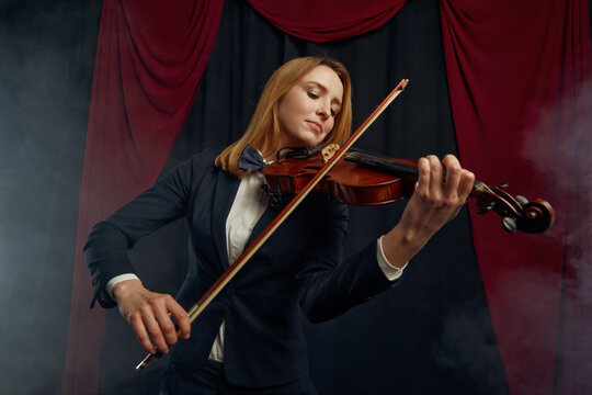
[[[471,213],[511,393],[590,393],[588,0],[441,0],[441,19],[463,163],[557,213],[537,236],[504,235]]]

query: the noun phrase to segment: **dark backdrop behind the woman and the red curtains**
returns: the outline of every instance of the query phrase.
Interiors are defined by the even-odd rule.
[[[61,388],[100,10],[98,0],[1,4],[1,393]],[[331,55],[350,69],[354,126],[401,78],[410,79],[358,147],[401,158],[455,153],[437,1],[412,0],[375,32],[317,45],[277,31],[244,1],[226,0],[194,108],[166,168],[236,139],[273,69],[307,54]],[[346,253],[386,232],[403,205],[352,207]],[[181,222],[171,224],[132,251],[152,289],[179,285],[184,232]],[[413,259],[400,286],[332,321],[306,324],[306,331],[321,394],[508,392],[465,211]],[[136,373],[143,357],[127,324],[110,311],[101,393],[153,391],[164,362]]]

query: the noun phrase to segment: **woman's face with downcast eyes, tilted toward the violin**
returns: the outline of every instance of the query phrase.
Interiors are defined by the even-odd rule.
[[[287,91],[277,105],[280,149],[314,147],[333,129],[343,84],[327,66],[317,66]]]

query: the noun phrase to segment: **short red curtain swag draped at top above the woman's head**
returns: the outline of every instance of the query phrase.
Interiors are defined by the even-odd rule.
[[[248,0],[277,29],[322,43],[361,35],[380,27],[407,0]]]

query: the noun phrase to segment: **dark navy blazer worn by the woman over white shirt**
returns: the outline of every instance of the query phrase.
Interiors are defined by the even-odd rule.
[[[193,156],[93,228],[84,253],[103,307],[116,305],[104,291],[107,281],[135,272],[127,250],[180,217],[190,230],[181,305],[190,308],[228,268],[226,218],[240,181],[215,167],[215,157],[214,151]],[[248,245],[277,214],[267,207]],[[327,320],[392,285],[378,267],[375,241],[342,262],[346,224],[341,201],[308,196],[195,319],[191,339],[172,348],[171,362],[198,368],[225,320],[224,369],[230,383],[271,386],[306,376],[300,312],[311,321]]]

